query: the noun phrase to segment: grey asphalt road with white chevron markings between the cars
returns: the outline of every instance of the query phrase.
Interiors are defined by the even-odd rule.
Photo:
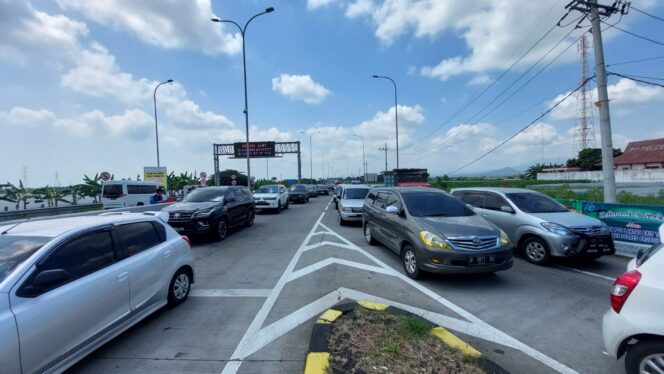
[[[425,315],[513,373],[622,373],[602,353],[601,318],[627,260],[539,267],[517,258],[484,276],[411,281],[397,255],[339,226],[322,196],[223,242],[194,241],[190,299],[92,353],[72,373],[296,373],[316,317],[370,299]]]

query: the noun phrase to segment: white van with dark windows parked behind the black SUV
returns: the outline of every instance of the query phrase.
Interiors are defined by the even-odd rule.
[[[104,209],[124,208],[150,204],[159,182],[108,181],[102,184],[101,203]],[[166,197],[164,196],[164,199]]]

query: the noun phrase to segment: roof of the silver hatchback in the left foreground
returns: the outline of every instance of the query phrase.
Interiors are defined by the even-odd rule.
[[[102,213],[96,216],[78,216],[65,218],[24,221],[18,224],[0,226],[0,232],[9,230],[6,235],[56,237],[66,232],[96,226],[154,220],[153,215],[143,213]],[[12,228],[12,226],[14,226]]]

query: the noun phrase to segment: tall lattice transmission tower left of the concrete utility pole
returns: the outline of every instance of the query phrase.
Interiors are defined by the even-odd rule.
[[[579,39],[577,49],[581,57],[581,89],[577,92],[577,120],[574,129],[574,143],[581,150],[595,147],[595,121],[592,103],[592,91],[588,84],[588,48],[590,42],[585,34]]]

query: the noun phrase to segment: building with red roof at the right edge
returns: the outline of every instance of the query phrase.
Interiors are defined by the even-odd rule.
[[[613,163],[617,170],[663,169],[664,138],[631,142]]]

